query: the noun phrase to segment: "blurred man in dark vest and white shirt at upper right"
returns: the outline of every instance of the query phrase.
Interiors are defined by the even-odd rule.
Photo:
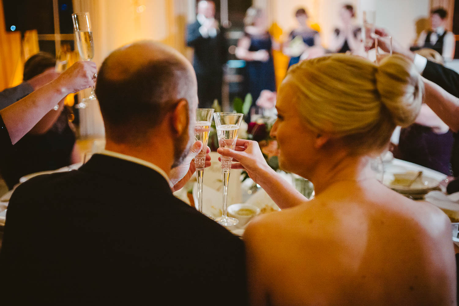
[[[445,61],[454,58],[456,39],[454,34],[446,30],[446,17],[448,12],[443,8],[431,11],[431,30],[422,31],[417,45],[421,48],[434,49],[443,56]]]

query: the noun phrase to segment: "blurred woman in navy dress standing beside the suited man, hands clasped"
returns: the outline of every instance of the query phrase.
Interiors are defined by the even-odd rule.
[[[245,32],[237,44],[236,56],[246,61],[246,80],[254,105],[262,90],[276,91],[272,49],[279,47],[267,31],[263,10],[249,8],[244,23]]]

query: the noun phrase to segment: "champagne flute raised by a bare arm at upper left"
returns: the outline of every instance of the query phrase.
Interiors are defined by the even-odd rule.
[[[83,60],[92,60],[94,57],[94,41],[92,38],[89,12],[72,14],[72,21],[73,30],[75,30],[78,53]],[[97,74],[95,74],[94,77],[97,77]],[[78,107],[84,109],[86,107],[87,100],[96,99],[93,86],[90,96],[88,98],[84,98],[83,101],[78,104]]]

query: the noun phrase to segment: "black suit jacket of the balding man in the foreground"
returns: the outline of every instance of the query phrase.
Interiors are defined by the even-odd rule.
[[[11,197],[1,305],[245,305],[245,279],[242,241],[146,166],[95,154]]]

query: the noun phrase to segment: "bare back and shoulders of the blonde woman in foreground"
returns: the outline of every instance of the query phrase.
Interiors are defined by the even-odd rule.
[[[375,180],[265,215],[244,239],[254,305],[455,305],[448,218]]]

